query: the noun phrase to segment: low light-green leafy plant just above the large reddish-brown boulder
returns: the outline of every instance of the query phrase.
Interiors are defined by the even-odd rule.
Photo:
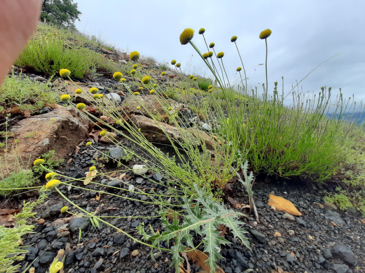
[[[51,90],[48,83],[35,82],[26,76],[24,79],[14,74],[4,79],[0,86],[0,105],[16,104],[20,110],[35,110],[43,107],[44,103],[55,103],[59,95]]]

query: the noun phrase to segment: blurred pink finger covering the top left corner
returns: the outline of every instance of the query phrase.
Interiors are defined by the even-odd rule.
[[[37,29],[41,0],[1,0],[0,84],[12,63]]]

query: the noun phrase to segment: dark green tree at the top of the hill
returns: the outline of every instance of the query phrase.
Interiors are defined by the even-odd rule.
[[[76,28],[76,19],[80,21],[81,12],[73,0],[43,0],[41,21],[60,25],[66,28]]]

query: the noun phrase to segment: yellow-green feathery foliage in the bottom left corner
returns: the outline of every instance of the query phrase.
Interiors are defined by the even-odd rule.
[[[33,233],[34,226],[28,225],[27,219],[34,217],[36,214],[32,212],[35,206],[40,205],[47,197],[44,193],[44,189],[41,190],[39,199],[35,202],[23,202],[23,209],[20,213],[15,214],[16,226],[12,228],[0,226],[0,273],[15,273],[18,272],[20,264],[13,265],[15,261],[22,261],[24,254],[27,250],[24,250],[20,246],[20,238],[27,233]]]

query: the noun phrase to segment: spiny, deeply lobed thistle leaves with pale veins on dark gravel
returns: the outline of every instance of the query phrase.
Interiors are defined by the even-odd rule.
[[[173,240],[174,245],[171,247],[171,254],[173,255],[172,266],[175,267],[176,272],[179,272],[178,264],[184,262],[184,259],[180,256],[181,252],[186,252],[185,248],[195,248],[193,244],[193,237],[190,232],[195,232],[202,236],[202,245],[204,246],[204,252],[209,253],[209,258],[206,261],[210,266],[210,273],[215,272],[217,267],[216,261],[223,258],[220,255],[220,245],[230,244],[224,237],[221,237],[220,232],[217,231],[219,225],[225,225],[230,228],[235,238],[239,238],[243,245],[248,249],[247,233],[242,227],[239,217],[245,216],[238,211],[228,210],[226,206],[218,202],[213,201],[212,194],[206,195],[206,190],[201,189],[197,184],[193,185],[193,189],[196,191],[195,198],[188,198],[185,193],[184,199],[184,220],[181,222],[177,214],[175,213],[173,222],[169,222],[166,217],[166,211],[159,211],[162,220],[163,232],[156,233],[153,227],[150,226],[152,235],[148,235],[141,223],[137,229],[143,236],[143,240],[150,241],[151,245],[156,248],[160,248],[160,243],[166,241],[168,244],[170,240]],[[193,202],[195,204],[193,206]]]

